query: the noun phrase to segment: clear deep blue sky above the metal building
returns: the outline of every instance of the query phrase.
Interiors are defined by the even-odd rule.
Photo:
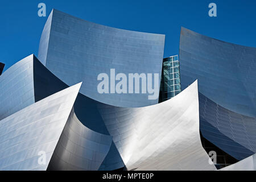
[[[42,0],[1,1],[0,62],[11,65],[34,53],[47,17],[38,3],[65,13],[127,30],[166,34],[164,57],[179,53],[181,26],[226,42],[256,47],[256,0]],[[208,5],[217,5],[217,17]]]

